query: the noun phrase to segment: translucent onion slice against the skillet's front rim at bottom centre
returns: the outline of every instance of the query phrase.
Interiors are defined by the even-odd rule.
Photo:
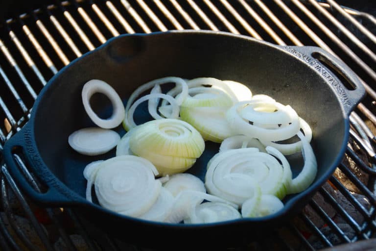
[[[234,207],[222,202],[205,202],[194,205],[184,219],[185,224],[201,224],[230,221],[241,218]]]

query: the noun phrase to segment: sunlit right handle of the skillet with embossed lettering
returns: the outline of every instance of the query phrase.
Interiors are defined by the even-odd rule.
[[[365,96],[365,88],[359,77],[341,59],[328,51],[313,46],[284,46],[282,48],[304,60],[323,76],[335,91],[348,115]],[[325,62],[330,69],[322,62]],[[347,88],[336,75],[341,75],[353,88]]]

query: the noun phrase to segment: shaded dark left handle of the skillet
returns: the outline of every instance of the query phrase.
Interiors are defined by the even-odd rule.
[[[57,180],[44,164],[31,140],[29,124],[4,145],[3,158],[11,177],[32,200],[45,206],[60,207],[85,203],[78,195],[67,192],[68,188]],[[39,176],[43,176],[46,182],[35,178]]]

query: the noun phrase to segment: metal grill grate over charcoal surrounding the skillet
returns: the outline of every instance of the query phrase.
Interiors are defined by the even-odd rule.
[[[43,0],[17,6],[4,1],[6,8],[0,11],[1,250],[141,250],[104,234],[71,208],[33,204],[1,162],[1,151],[27,123],[48,79],[70,61],[122,33],[171,29],[221,30],[279,45],[319,46],[352,68],[367,96],[352,112],[346,157],[297,217],[244,249],[320,250],[374,239],[376,6],[362,6],[362,1],[350,4],[354,5],[340,0]],[[14,158],[33,187],[43,191],[22,156]]]

